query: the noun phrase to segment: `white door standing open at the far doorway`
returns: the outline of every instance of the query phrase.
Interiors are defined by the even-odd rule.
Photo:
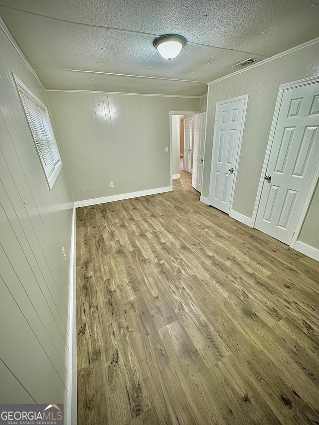
[[[203,179],[203,162],[204,162],[204,148],[205,148],[205,125],[206,125],[206,112],[196,114],[194,117],[194,143],[193,143],[193,175],[191,185],[194,189],[201,193],[202,179]]]

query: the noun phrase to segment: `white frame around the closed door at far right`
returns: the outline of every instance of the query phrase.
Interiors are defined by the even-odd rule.
[[[287,89],[294,89],[296,87],[307,86],[309,84],[313,84],[313,83],[317,83],[317,82],[319,82],[319,76],[318,75],[316,77],[304,78],[303,80],[292,81],[290,83],[281,84],[279,86],[279,92],[278,92],[278,96],[277,96],[277,101],[276,101],[276,106],[275,106],[275,111],[274,111],[274,116],[273,116],[273,122],[272,122],[270,133],[269,133],[269,139],[268,139],[267,149],[266,149],[266,153],[265,153],[264,164],[263,164],[262,172],[261,172],[261,175],[260,175],[260,181],[259,181],[258,191],[257,191],[257,195],[256,195],[254,211],[253,211],[253,215],[252,215],[252,219],[251,219],[251,226],[252,227],[255,227],[257,211],[258,211],[258,207],[259,207],[259,203],[260,203],[260,199],[261,199],[261,193],[262,193],[262,190],[263,190],[263,185],[264,185],[264,180],[265,180],[264,176],[266,175],[266,170],[267,170],[267,166],[268,166],[271,148],[272,148],[272,145],[273,145],[275,130],[276,130],[276,127],[277,127],[279,111],[280,111],[284,91],[287,90]],[[318,178],[319,178],[319,162],[317,164],[314,176],[313,176],[312,181],[310,183],[310,186],[309,186],[309,189],[308,189],[308,192],[307,192],[307,195],[306,195],[305,203],[304,203],[304,206],[301,210],[301,213],[300,213],[297,225],[296,225],[295,233],[294,233],[293,238],[292,238],[292,240],[289,244],[289,246],[293,249],[295,248],[295,245],[296,245],[296,242],[298,240],[302,225],[304,223],[304,220],[305,220],[311,199],[313,197],[313,194],[314,194],[317,182],[318,182]]]

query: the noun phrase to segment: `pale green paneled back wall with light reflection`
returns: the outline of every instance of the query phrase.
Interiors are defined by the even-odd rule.
[[[170,186],[169,111],[199,108],[198,98],[47,96],[76,201]]]

